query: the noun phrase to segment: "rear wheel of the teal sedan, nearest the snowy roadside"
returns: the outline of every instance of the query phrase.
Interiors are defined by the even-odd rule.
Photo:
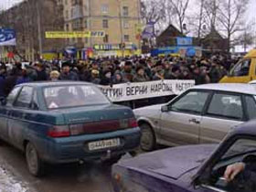
[[[26,160],[28,171],[30,174],[32,174],[33,176],[44,175],[44,163],[38,156],[37,149],[34,144],[28,143],[26,145]]]

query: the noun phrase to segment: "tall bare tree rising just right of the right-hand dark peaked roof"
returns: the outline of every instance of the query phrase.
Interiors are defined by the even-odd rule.
[[[228,48],[230,49],[232,36],[241,30],[243,16],[245,16],[249,0],[222,0],[219,4],[218,20],[224,28],[228,38]],[[228,49],[228,51],[229,51]]]

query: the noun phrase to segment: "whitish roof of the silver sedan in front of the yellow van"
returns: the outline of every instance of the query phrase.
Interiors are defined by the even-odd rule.
[[[229,91],[256,95],[256,86],[246,83],[214,83],[192,87],[191,90]]]

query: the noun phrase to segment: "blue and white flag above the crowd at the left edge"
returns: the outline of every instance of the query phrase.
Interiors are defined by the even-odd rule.
[[[16,32],[11,28],[0,28],[0,46],[16,46]]]

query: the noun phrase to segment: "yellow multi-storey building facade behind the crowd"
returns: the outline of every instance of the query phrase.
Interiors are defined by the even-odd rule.
[[[103,31],[104,37],[69,38],[66,47],[95,56],[132,55],[141,47],[140,0],[59,0],[65,31]]]

